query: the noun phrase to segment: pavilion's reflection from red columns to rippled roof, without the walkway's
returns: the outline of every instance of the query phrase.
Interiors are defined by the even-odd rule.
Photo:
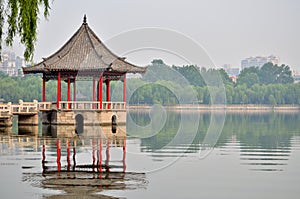
[[[53,141],[55,143],[48,144],[45,139],[42,145],[41,186],[65,193],[49,198],[102,198],[99,195],[102,190],[145,186],[143,173],[126,172],[125,136],[56,138]],[[115,153],[111,154],[112,150]],[[116,152],[121,159],[112,160]]]

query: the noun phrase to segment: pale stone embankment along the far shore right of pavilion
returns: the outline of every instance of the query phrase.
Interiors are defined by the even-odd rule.
[[[127,105],[130,110],[150,110],[153,105]],[[170,111],[226,111],[226,112],[300,112],[300,105],[257,105],[257,104],[230,104],[230,105],[204,105],[204,104],[184,104],[174,106],[162,106]]]

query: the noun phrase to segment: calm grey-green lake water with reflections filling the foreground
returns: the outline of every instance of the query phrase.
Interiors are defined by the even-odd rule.
[[[163,115],[159,126],[128,113],[126,138],[14,121],[0,129],[1,198],[299,198],[299,113],[227,113],[224,126],[210,113]]]

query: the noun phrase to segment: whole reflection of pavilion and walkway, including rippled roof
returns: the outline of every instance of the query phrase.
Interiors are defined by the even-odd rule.
[[[144,173],[126,172],[125,127],[101,128],[97,136],[26,129],[19,135],[2,133],[0,143],[12,148],[30,146],[33,152],[41,153],[42,172],[24,168],[23,180],[64,192],[46,198],[113,198],[101,195],[101,191],[145,188]]]

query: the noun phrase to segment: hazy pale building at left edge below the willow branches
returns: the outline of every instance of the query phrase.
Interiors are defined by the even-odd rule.
[[[5,51],[2,53],[0,71],[9,76],[23,76],[22,67],[25,67],[23,58],[17,56],[14,52]]]

